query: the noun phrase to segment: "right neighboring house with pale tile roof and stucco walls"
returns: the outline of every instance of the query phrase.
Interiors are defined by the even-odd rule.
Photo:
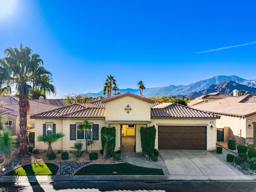
[[[192,107],[221,116],[216,120],[220,134],[217,141],[234,138],[238,144],[256,144],[256,95],[224,98]]]

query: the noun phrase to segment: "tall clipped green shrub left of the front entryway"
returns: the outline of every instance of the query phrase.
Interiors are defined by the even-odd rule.
[[[116,148],[116,128],[115,127],[102,127],[100,131],[100,137],[101,137],[101,145],[102,150],[104,151],[104,147],[106,145],[106,139],[104,138],[104,135],[112,136],[113,139],[108,142],[108,149],[106,150],[106,153],[108,156],[113,156],[115,148]]]

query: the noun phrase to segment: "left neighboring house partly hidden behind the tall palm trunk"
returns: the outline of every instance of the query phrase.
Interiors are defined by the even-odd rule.
[[[58,106],[50,104],[44,104],[41,102],[28,100],[29,110],[27,116],[27,124],[30,124],[30,130],[34,130],[35,122],[34,119],[30,119],[30,115],[43,112],[46,110],[52,110]],[[1,96],[0,97],[0,115],[6,119],[5,126],[10,127],[12,134],[18,136],[17,141],[19,142],[20,136],[20,113],[19,113],[19,98],[16,96]]]

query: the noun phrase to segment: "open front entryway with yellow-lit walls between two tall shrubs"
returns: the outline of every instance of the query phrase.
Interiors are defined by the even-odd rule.
[[[132,152],[136,150],[136,125],[120,125],[122,152]]]

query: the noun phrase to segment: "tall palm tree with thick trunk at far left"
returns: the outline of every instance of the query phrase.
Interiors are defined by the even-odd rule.
[[[33,90],[32,86],[41,86],[48,93],[55,93],[55,88],[44,78],[41,78],[42,76],[49,76],[49,72],[46,74],[42,72],[40,75],[35,74],[38,68],[43,71],[43,62],[38,54],[33,54],[30,48],[23,47],[20,44],[19,48],[7,48],[4,54],[5,57],[0,59],[0,94],[11,92],[12,88],[16,88],[18,92],[20,112],[19,156],[24,157],[28,155],[26,126],[29,103],[27,96],[30,90]]]

